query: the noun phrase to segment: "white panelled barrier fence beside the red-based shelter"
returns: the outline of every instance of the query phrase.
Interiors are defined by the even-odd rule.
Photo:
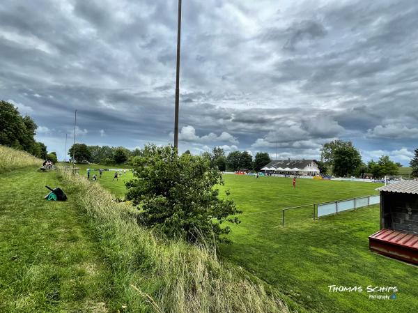
[[[344,199],[323,204],[316,204],[316,217],[330,214],[338,214],[342,211],[355,210],[364,206],[380,203],[380,196],[366,196],[352,199]]]

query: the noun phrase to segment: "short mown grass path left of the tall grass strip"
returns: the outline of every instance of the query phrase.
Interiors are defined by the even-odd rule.
[[[107,312],[112,287],[88,216],[46,201],[59,185],[38,167],[0,177],[0,312]]]

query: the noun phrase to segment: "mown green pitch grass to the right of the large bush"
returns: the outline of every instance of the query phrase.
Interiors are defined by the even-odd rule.
[[[311,312],[418,312],[418,268],[369,251],[368,236],[379,229],[378,206],[315,221],[311,207],[286,212],[292,218],[286,218],[285,227],[281,210],[258,214],[377,194],[374,189],[380,185],[297,179],[293,188],[291,178],[230,174],[224,181],[221,189],[230,190],[244,213],[229,235],[233,244],[220,247],[223,259],[246,268]],[[364,291],[330,293],[330,285],[362,286]],[[369,285],[396,286],[397,299],[369,299]]]

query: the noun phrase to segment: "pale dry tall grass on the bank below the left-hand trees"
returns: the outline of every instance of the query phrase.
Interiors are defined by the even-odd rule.
[[[27,152],[0,145],[0,173],[31,165],[40,166],[42,165],[42,160]]]

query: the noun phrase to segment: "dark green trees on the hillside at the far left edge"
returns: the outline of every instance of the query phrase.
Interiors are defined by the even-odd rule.
[[[13,104],[0,100],[0,144],[56,162],[56,153],[47,153],[47,146],[36,142],[37,128],[30,116],[22,116]]]

